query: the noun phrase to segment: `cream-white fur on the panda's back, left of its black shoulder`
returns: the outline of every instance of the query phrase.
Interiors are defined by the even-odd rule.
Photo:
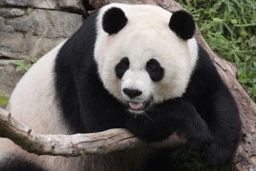
[[[65,124],[56,107],[53,65],[57,52],[65,42],[38,60],[14,88],[10,99],[12,116],[33,127],[34,131],[66,133]],[[32,107],[34,106],[34,107]],[[59,125],[56,127],[55,125]],[[53,127],[51,127],[53,126]]]

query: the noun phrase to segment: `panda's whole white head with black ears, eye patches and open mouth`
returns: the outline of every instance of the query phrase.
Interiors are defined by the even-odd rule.
[[[182,96],[198,58],[187,12],[112,4],[99,11],[96,27],[99,77],[130,112]]]

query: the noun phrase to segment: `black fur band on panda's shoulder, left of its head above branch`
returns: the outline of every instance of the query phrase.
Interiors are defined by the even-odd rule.
[[[80,133],[123,127],[126,110],[106,91],[97,74],[93,54],[96,14],[65,43],[55,62],[55,87],[64,117]]]

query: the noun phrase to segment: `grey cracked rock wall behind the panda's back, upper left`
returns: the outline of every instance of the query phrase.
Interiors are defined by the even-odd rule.
[[[11,61],[40,58],[69,38],[84,10],[80,0],[0,0],[0,6],[0,91],[11,94],[25,73]]]

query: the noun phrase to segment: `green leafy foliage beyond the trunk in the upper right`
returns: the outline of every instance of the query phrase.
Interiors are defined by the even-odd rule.
[[[178,1],[178,0],[177,0]],[[256,1],[180,0],[207,44],[238,67],[238,80],[256,102]]]

